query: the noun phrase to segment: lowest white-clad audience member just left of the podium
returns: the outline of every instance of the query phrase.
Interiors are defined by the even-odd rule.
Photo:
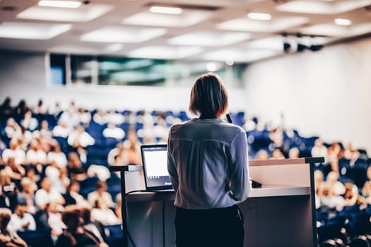
[[[93,210],[91,210],[91,219],[96,220],[104,225],[119,224],[119,218],[108,207],[103,198],[97,198]]]

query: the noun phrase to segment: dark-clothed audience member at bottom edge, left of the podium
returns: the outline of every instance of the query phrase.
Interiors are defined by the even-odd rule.
[[[57,240],[56,247],[103,247],[99,239],[85,231],[81,226],[83,219],[81,211],[76,205],[69,205],[64,208],[62,212],[62,221],[66,224],[66,231],[64,231]]]

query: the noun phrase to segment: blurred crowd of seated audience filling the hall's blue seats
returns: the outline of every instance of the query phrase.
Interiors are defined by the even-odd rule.
[[[350,209],[371,215],[371,159],[365,150],[355,149],[352,143],[302,137],[285,128],[283,116],[271,123],[247,114],[233,117],[247,131],[251,159],[325,157],[314,166],[317,215],[327,215],[319,219],[321,225],[343,215],[355,224],[357,217],[349,215]],[[0,207],[13,216],[4,219],[13,217],[18,221],[14,229],[21,225],[20,230],[26,230],[26,223],[19,222],[31,215],[36,229],[51,229],[57,246],[105,246],[107,236],[94,219],[104,224],[122,220],[121,194],[105,183],[110,177],[107,167],[141,164],[142,144],[165,143],[172,123],[187,119],[185,114],[160,111],[88,111],[75,102],[66,109],[56,102],[48,109],[42,100],[35,107],[20,100],[13,107],[11,98],[6,98],[0,105]],[[89,217],[83,216],[81,207],[87,208]],[[33,229],[29,224],[28,230],[30,226]],[[7,240],[11,235],[17,239],[11,228],[1,231]]]

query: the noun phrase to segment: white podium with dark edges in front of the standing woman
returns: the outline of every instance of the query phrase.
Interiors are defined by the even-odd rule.
[[[313,164],[318,162],[324,158],[249,161],[250,177],[262,186],[240,203],[245,246],[317,246]],[[175,193],[145,192],[141,166],[110,171],[121,174],[124,247],[174,247]]]

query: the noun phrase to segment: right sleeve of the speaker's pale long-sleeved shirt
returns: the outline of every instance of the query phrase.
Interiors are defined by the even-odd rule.
[[[238,133],[230,144],[230,181],[232,198],[242,202],[251,191],[249,183],[249,161],[245,131]]]

